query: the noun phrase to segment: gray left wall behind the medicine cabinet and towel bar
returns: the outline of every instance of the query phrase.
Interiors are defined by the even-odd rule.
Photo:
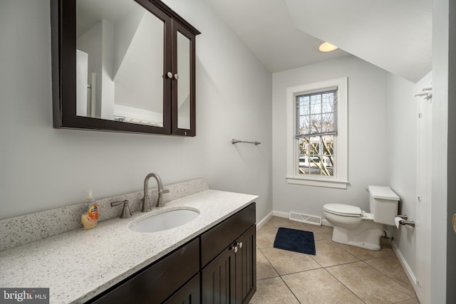
[[[258,194],[258,219],[271,211],[271,73],[204,1],[165,2],[202,32],[194,138],[53,129],[49,1],[0,2],[0,219],[76,204],[88,189],[139,191],[149,172],[164,184],[209,177],[212,189]]]

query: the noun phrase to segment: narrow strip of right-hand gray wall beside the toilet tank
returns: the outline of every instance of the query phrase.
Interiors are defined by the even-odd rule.
[[[416,106],[415,83],[388,73],[388,159],[389,187],[400,197],[400,214],[416,219]],[[414,229],[388,226],[398,250],[415,273]]]

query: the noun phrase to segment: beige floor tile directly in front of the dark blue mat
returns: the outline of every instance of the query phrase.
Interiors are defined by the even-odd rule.
[[[278,248],[262,248],[264,256],[272,267],[283,276],[284,274],[308,271],[321,268],[309,255]]]

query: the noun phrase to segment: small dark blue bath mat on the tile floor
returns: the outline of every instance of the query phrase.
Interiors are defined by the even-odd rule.
[[[274,240],[274,248],[315,256],[314,232],[280,227]]]

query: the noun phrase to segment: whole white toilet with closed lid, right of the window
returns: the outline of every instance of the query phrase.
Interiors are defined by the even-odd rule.
[[[370,250],[380,250],[383,225],[395,225],[399,196],[389,187],[369,186],[371,213],[357,206],[326,204],[323,215],[333,224],[333,241]]]

